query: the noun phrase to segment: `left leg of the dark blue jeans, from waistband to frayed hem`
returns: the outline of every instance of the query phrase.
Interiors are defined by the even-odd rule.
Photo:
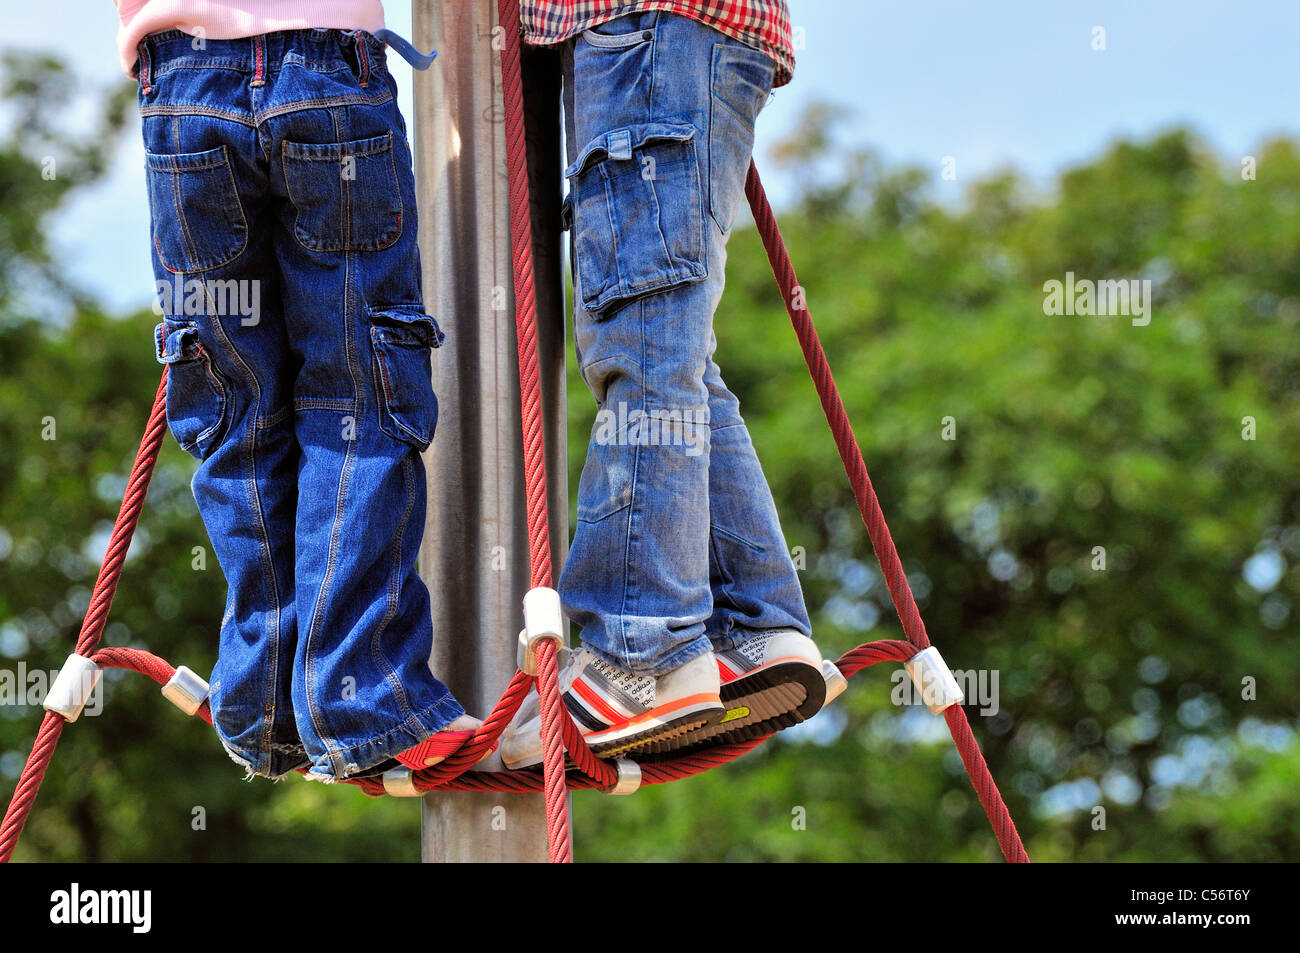
[[[265,169],[247,77],[188,36],[150,39],[140,96],[168,421],[202,463],[194,495],[229,585],[216,731],[250,771],[306,763],[290,701],[298,442]],[[203,104],[203,105],[199,105]],[[207,107],[207,108],[204,108]]]

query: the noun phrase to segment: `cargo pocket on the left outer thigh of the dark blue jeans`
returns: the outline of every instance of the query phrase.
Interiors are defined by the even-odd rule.
[[[166,423],[187,454],[205,460],[225,433],[228,387],[212,367],[192,321],[164,319],[153,329],[153,348],[168,368]]]

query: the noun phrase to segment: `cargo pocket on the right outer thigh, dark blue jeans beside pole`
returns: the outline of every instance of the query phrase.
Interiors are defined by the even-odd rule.
[[[413,308],[370,312],[374,389],[384,433],[428,450],[438,423],[429,351],[442,345],[437,322]]]

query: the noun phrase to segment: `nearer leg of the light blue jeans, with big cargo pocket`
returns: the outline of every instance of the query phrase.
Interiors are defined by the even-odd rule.
[[[644,675],[707,653],[712,610],[701,437],[722,274],[708,272],[716,229],[701,192],[708,69],[699,49],[656,60],[671,22],[621,17],[563,57],[575,339],[599,410],[559,590],[584,645]]]

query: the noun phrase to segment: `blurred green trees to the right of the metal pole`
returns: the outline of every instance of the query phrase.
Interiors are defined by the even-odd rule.
[[[1004,173],[961,208],[920,170],[829,155],[840,186],[812,177],[785,237],[928,631],[1000,676],[998,712],[968,714],[1031,854],[1295,859],[1295,143],[1243,179],[1175,130],[1040,200]],[[1066,272],[1150,280],[1149,325],[1045,315]],[[816,637],[901,637],[753,234],[728,278],[718,360],[807,554]],[[580,854],[997,857],[942,725],[900,711],[890,675],[861,681],[708,777],[580,796]]]

